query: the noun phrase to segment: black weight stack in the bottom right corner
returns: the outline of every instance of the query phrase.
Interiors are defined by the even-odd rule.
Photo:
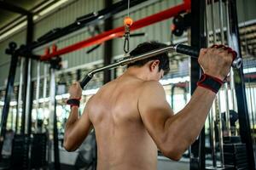
[[[247,148],[239,137],[224,138],[224,164],[232,166],[234,170],[247,170]]]

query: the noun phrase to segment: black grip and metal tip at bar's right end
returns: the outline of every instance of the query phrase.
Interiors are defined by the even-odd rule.
[[[187,54],[190,55],[194,59],[198,59],[198,56],[200,54],[200,49],[194,48],[191,46],[183,45],[183,44],[177,44],[176,46],[176,52],[180,54]],[[232,63],[232,67],[236,69],[240,69],[241,67],[242,60],[241,58],[236,58],[234,59]]]

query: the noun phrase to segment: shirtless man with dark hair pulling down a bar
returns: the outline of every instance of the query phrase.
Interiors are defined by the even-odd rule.
[[[165,45],[144,42],[131,55],[161,47]],[[226,48],[204,48],[198,61],[205,73],[224,80],[232,54]],[[189,104],[174,115],[159,82],[168,70],[167,54],[137,61],[91,97],[82,116],[73,106],[65,129],[65,149],[76,150],[94,127],[98,170],[155,170],[157,149],[179,160],[201,132],[216,94],[197,87]],[[69,94],[71,99],[81,97],[79,82],[73,83]]]

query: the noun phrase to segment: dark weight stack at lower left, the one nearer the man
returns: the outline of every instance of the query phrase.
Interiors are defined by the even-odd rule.
[[[33,134],[31,146],[31,167],[40,168],[46,165],[46,133]]]

